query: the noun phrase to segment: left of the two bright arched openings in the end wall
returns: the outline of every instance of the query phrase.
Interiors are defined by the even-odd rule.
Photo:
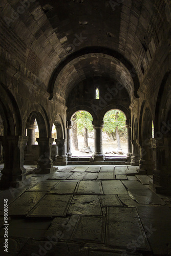
[[[94,130],[92,116],[87,111],[74,114],[71,133],[72,156],[92,156],[94,151]]]

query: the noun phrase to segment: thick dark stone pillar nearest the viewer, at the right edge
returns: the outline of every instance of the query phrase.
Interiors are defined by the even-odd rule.
[[[153,183],[149,186],[159,194],[171,195],[171,136],[151,139],[155,151]]]

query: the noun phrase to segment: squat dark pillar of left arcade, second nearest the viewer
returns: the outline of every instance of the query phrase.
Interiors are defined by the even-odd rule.
[[[37,161],[37,168],[34,170],[36,174],[50,174],[55,171],[53,161],[51,159],[52,152],[52,138],[37,138],[39,145],[39,159]]]

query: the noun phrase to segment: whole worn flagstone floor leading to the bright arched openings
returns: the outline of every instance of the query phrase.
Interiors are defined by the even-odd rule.
[[[126,165],[68,165],[0,191],[0,254],[171,255],[171,198]],[[4,251],[8,199],[8,253]]]

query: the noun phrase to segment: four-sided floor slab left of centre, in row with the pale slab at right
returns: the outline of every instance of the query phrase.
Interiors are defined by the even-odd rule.
[[[61,181],[50,191],[50,193],[73,194],[75,191],[76,185],[77,185],[77,182]]]

